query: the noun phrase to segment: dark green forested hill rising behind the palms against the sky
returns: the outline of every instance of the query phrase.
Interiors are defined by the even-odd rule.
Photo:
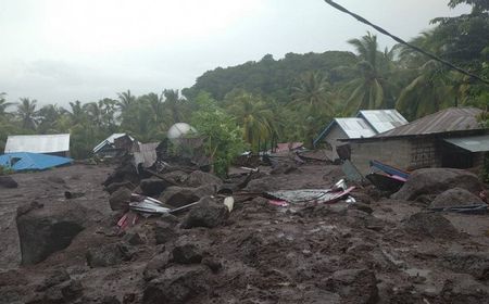
[[[287,53],[284,59],[274,60],[271,54],[258,62],[247,62],[231,67],[217,67],[197,78],[196,84],[183,93],[195,98],[201,90],[210,92],[217,100],[233,89],[244,89],[252,93],[266,94],[278,102],[287,102],[291,87],[301,75],[309,71],[323,73],[329,83],[350,78],[344,66],[353,66],[356,56],[351,52],[327,51],[324,53]]]

